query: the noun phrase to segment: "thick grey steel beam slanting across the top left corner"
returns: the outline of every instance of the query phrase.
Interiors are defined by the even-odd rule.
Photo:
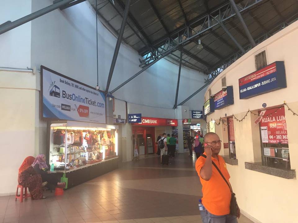
[[[60,8],[60,7],[66,5],[66,4],[70,3],[70,2],[73,2],[73,1],[74,0],[63,0],[61,2],[54,3],[54,4],[50,5],[50,6],[47,6],[47,7],[43,8],[43,9],[40,9],[40,10],[38,10],[36,12],[33,12],[33,13],[27,15],[27,16],[24,16],[24,17],[22,17],[22,18],[20,18],[18,20],[15,20],[13,22],[7,23],[7,25],[3,25],[0,28],[0,35],[2,33],[5,33],[7,31],[11,30],[11,29],[14,29],[14,28],[16,28],[16,27],[18,27],[20,25],[23,25],[23,24],[25,24],[25,23],[27,23],[27,22],[29,22],[31,20],[34,20],[34,19],[36,19],[36,18],[38,18],[40,16],[43,16],[43,15],[45,15],[45,14],[51,12],[51,11],[54,11],[55,9]]]

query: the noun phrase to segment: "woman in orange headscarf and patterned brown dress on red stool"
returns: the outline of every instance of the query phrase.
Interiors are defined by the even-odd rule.
[[[19,168],[19,185],[28,187],[31,194],[31,198],[34,200],[46,198],[43,196],[43,181],[40,174],[37,174],[32,167],[32,163],[35,158],[33,156],[28,156],[23,161]]]

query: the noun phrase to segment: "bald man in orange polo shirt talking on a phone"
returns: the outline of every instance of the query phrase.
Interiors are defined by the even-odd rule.
[[[230,215],[231,190],[212,161],[222,172],[227,181],[230,175],[224,159],[219,155],[221,140],[216,133],[209,132],[204,137],[205,155],[196,160],[196,172],[202,184],[202,204],[200,211],[203,223],[237,223],[237,217]],[[240,210],[238,210],[238,218]]]

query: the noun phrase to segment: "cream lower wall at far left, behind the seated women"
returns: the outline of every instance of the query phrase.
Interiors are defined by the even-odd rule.
[[[0,104],[4,105],[0,122],[0,177],[5,179],[0,184],[0,195],[5,195],[16,190],[23,160],[39,152],[36,76],[32,72],[0,70],[0,95]],[[45,141],[41,148],[45,148]]]

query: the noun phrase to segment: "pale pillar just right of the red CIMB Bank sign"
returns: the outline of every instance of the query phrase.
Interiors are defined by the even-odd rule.
[[[179,153],[184,153],[184,146],[183,146],[183,119],[189,118],[189,107],[179,105],[175,109],[175,116],[178,119],[178,146],[179,146]]]

